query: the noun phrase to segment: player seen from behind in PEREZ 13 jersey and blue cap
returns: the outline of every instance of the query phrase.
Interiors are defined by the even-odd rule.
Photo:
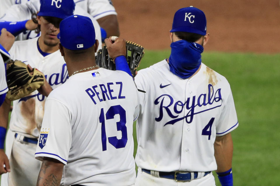
[[[43,161],[39,186],[134,185],[137,89],[126,72],[96,65],[98,40],[91,33],[88,17],[73,15],[60,23],[60,52],[72,75],[46,100],[35,153]],[[125,56],[125,40],[119,38],[113,45],[124,51],[115,55],[108,50],[113,59]]]

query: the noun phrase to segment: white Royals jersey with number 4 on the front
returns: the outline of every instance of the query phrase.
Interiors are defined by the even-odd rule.
[[[216,136],[238,126],[226,78],[201,64],[190,79],[169,70],[166,60],[138,71],[141,90],[136,164],[155,171],[213,171]]]

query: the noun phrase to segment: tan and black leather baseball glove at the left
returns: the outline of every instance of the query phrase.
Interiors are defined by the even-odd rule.
[[[6,73],[9,88],[6,98],[10,101],[27,96],[44,84],[45,78],[42,72],[36,68],[29,71],[27,65],[19,60],[8,62]]]

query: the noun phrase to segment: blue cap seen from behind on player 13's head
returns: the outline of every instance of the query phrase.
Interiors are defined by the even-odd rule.
[[[89,17],[71,15],[60,22],[57,38],[69,50],[84,50],[95,44],[95,29]]]

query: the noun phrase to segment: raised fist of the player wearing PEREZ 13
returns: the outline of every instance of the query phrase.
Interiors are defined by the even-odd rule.
[[[113,42],[110,38],[104,40],[109,56],[115,60],[118,56],[126,56],[126,43],[125,40],[121,37],[118,37],[115,42]]]

